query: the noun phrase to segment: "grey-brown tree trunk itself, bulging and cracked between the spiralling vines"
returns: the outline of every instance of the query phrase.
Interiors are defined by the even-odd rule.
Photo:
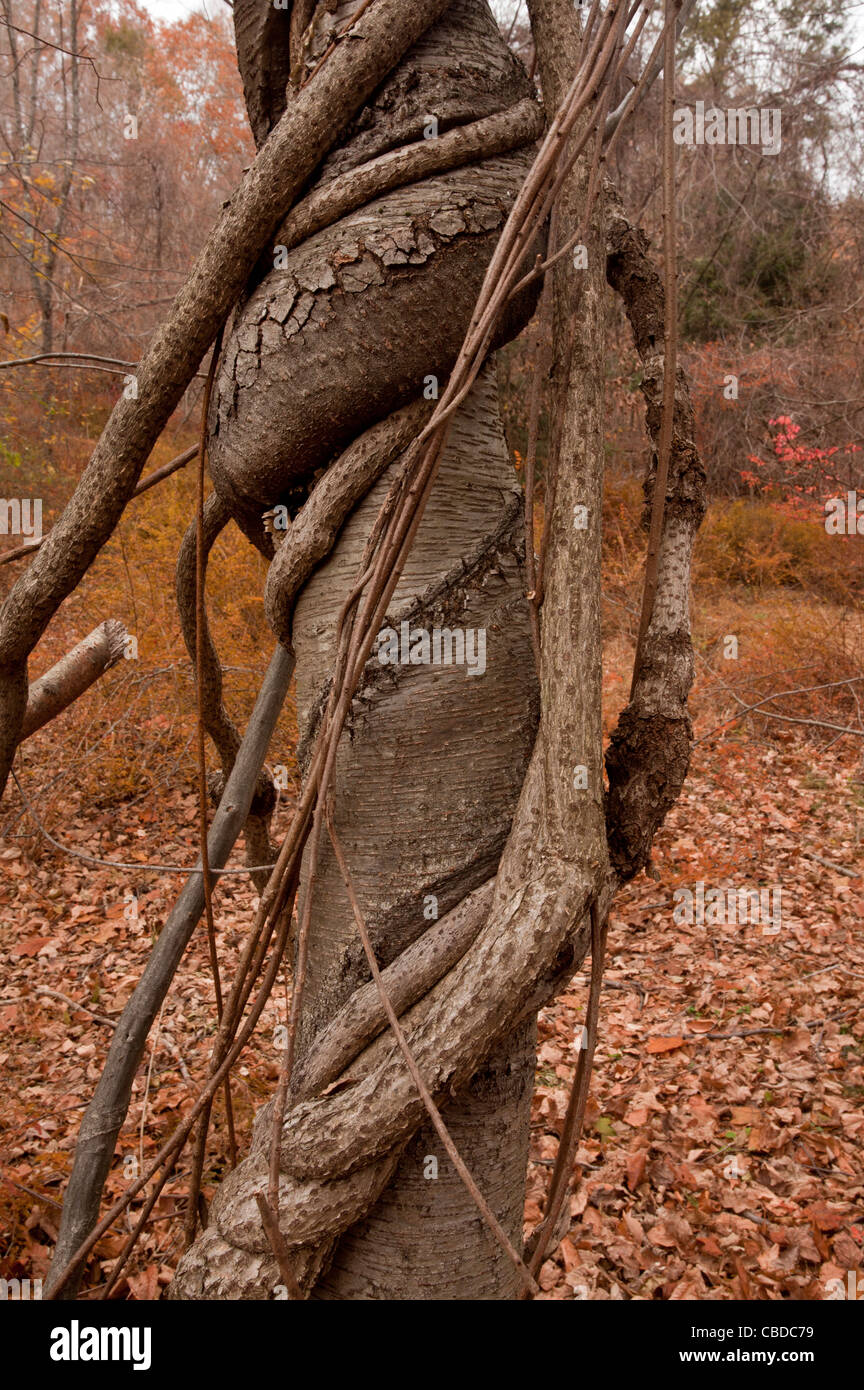
[[[340,7],[339,21],[353,8]],[[269,15],[261,10],[256,25],[249,11],[249,4],[238,7],[235,21],[261,139],[279,115],[278,106],[267,111],[267,100],[274,100],[269,72],[285,57],[274,53]],[[257,44],[269,35],[267,72],[256,68],[244,35]],[[431,117],[443,133],[528,92],[485,0],[456,0],[360,114],[319,183],[419,139]],[[389,193],[313,236],[253,286],[217,379],[211,470],[217,491],[263,550],[269,549],[260,520],[265,506],[296,505],[310,471],[335,449],[417,398],[424,382],[443,385],[529,160],[529,152],[489,158]],[[522,297],[501,336],[513,335],[532,306]],[[353,513],[303,591],[292,631],[281,632],[297,657],[301,760],[326,688],[339,610],[397,466]],[[453,420],[388,616],[397,634],[403,623],[429,641],[436,628],[464,632],[475,642],[475,669],[372,660],[336,764],[335,821],[382,967],[495,876],[538,719],[524,595],[520,489],[489,361]],[[276,605],[268,609],[274,614]],[[369,979],[329,847],[311,885],[307,853],[300,910],[310,891],[299,1066],[319,1030]],[[529,1016],[451,1098],[446,1115],[517,1248],[533,1065]],[[381,1200],[338,1241],[313,1297],[510,1298],[517,1284],[513,1264],[424,1126]],[[268,1297],[267,1287],[257,1295]]]

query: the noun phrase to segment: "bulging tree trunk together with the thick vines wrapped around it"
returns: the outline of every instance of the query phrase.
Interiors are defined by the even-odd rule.
[[[399,585],[386,591],[389,610],[378,651],[369,655],[372,631],[364,638],[365,667],[357,687],[351,673],[350,712],[347,691],[339,698],[342,738],[331,748],[335,770],[326,812],[328,824],[333,813],[347,867],[339,852],[338,872],[328,841],[318,845],[313,831],[300,873],[300,916],[311,931],[307,966],[303,972],[297,966],[297,1056],[285,1112],[279,1093],[272,1172],[271,1102],[257,1118],[249,1155],[219,1186],[207,1229],[178,1266],[175,1298],[265,1300],[278,1297],[283,1279],[319,1300],[515,1294],[513,1247],[521,1245],[536,1009],[578,969],[589,924],[600,927],[615,888],[646,862],[653,833],[686,773],[692,737],[686,600],[701,471],[682,379],[657,600],[632,699],[613,735],[608,794],[601,764],[604,278],[608,270],[625,299],[646,363],[653,438],[664,363],[651,346],[656,334],[646,336],[642,329],[645,322],[661,322],[663,289],[643,240],[617,208],[614,190],[607,193],[608,206],[597,199],[583,225],[599,167],[595,163],[589,172],[586,156],[561,168],[567,122],[556,118],[532,163],[536,103],[486,0],[449,6],[429,0],[429,7],[424,29],[400,0],[372,7],[365,0],[304,3],[278,19],[265,0],[236,0],[246,100],[264,147],[251,170],[254,197],[233,267],[231,296],[244,285],[243,299],[233,311],[211,400],[215,493],[208,534],[233,517],[272,559],[267,614],[286,660],[297,656],[297,760],[308,783],[292,833],[300,826],[303,835],[321,785],[319,763],[313,771],[310,756],[328,708],[346,595],[368,562],[369,535],[381,538],[378,518],[390,484],[403,488],[393,493],[400,502],[422,492],[415,474],[406,484],[404,450],[428,418],[429,400],[465,332],[486,322],[474,317],[478,289],[488,271],[490,282],[497,274],[499,257],[495,271],[489,263],[528,167],[511,227],[549,186],[557,165],[558,245],[582,238],[589,257],[588,268],[557,259],[553,272],[556,400],[539,682],[524,595],[520,489],[501,435],[490,357],[482,370],[478,361],[471,391],[465,386],[446,435],[436,436],[438,475],[429,498],[422,493],[425,510],[413,548],[400,556]],[[529,10],[551,114],[578,68],[579,21],[570,0],[531,0]],[[626,7],[615,13],[622,22]],[[620,43],[621,33],[610,39]],[[346,51],[360,53],[358,61]],[[385,51],[396,65],[382,81]],[[611,72],[614,43],[606,51]],[[339,72],[353,79],[339,85]],[[579,111],[589,121],[603,114],[603,107],[585,111],[581,82],[567,99],[570,121]],[[286,183],[292,131],[307,128],[313,147],[331,153],[313,174],[310,150],[297,150],[297,170],[304,172],[296,171],[294,195],[304,195],[303,202],[256,265],[263,228],[275,224],[275,214],[267,222],[263,190],[268,181]],[[339,129],[343,143],[332,149]],[[426,142],[435,147],[432,157]],[[540,215],[535,229],[539,221]],[[525,267],[538,250],[522,243]],[[249,281],[238,279],[238,265],[251,272]],[[497,338],[482,339],[483,353],[524,327],[532,303],[532,292],[507,300]],[[218,304],[210,307],[215,316]],[[169,322],[165,342],[171,332]],[[204,328],[200,334],[203,342]],[[153,349],[147,360],[158,366],[160,352]],[[181,361],[176,381],[186,368]],[[167,399],[160,395],[156,413]],[[436,425],[439,418],[440,410]],[[122,438],[124,457],[135,471],[140,431],[129,442],[124,420],[113,421],[103,455],[115,436]],[[411,452],[408,461],[414,466],[418,457],[424,461]],[[88,470],[89,486],[99,471],[94,464],[104,461],[100,456]],[[117,489],[126,484],[129,478],[117,480]],[[78,492],[76,499],[81,507]],[[110,512],[100,521],[108,530]],[[294,521],[279,543],[281,512]],[[56,531],[54,549],[63,550],[63,525]],[[393,555],[389,542],[386,534],[386,563]],[[36,580],[44,570],[42,559],[28,571]],[[72,556],[75,564],[81,559]],[[179,566],[179,589],[189,610],[186,562]],[[18,591],[11,598],[21,600]],[[33,623],[42,621],[57,592],[43,594]],[[8,614],[14,616],[14,603],[7,605]],[[3,656],[0,639],[0,695],[14,706],[17,728],[26,687],[15,662],[10,659],[4,671]],[[218,680],[211,695],[208,727],[224,745],[228,766],[236,737],[222,717]],[[236,767],[232,778],[235,773]],[[294,840],[297,848],[301,844]],[[290,848],[290,842],[283,848],[279,869]],[[278,920],[276,944],[225,1069],[275,981],[289,926],[286,899],[276,894],[282,888],[293,894],[297,873],[294,860],[292,877],[279,884],[276,873],[267,888],[253,930],[265,927],[268,916],[271,926]],[[363,922],[371,938],[369,947],[364,935],[365,951],[356,930],[360,923],[363,931]],[[172,951],[182,949],[192,930],[188,913],[179,927]],[[393,990],[389,1013],[381,999],[371,1004],[367,952],[371,958],[372,951]],[[161,966],[154,972],[160,997],[169,977]],[[154,990],[153,998],[139,1001],[142,1026],[153,1017]],[[403,1033],[413,1059],[403,1055]],[[124,1076],[106,1084],[100,1097],[113,1134],[135,1061],[126,1056]],[[213,1084],[218,1080],[214,1076]],[[439,1151],[433,1136],[440,1123],[426,1127],[429,1097],[446,1111],[451,1136],[488,1201],[489,1226],[497,1220],[500,1244],[492,1243]],[[96,1125],[96,1105],[88,1113]],[[110,1134],[107,1144],[106,1133],[96,1134],[103,1176],[113,1140]],[[181,1129],[178,1144],[185,1133]],[[160,1161],[174,1152],[168,1145]],[[572,1154],[570,1144],[563,1154]],[[86,1154],[83,1162],[76,1159],[81,1191],[68,1220],[68,1201],[64,1207],[67,1241],[74,1227],[81,1234],[90,1229],[99,1200],[85,1168]],[[263,1225],[268,1208],[260,1200],[271,1184],[278,1187],[278,1198],[271,1197],[278,1232],[271,1219],[267,1230]],[[550,1215],[550,1227],[553,1220]],[[508,1255],[500,1248],[507,1240]],[[538,1248],[538,1265],[540,1258]]]

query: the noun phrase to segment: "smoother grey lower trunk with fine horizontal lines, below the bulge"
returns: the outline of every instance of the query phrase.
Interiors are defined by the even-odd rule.
[[[297,605],[301,728],[329,673],[333,623],[388,482],[354,514]],[[333,788],[339,835],[382,966],[431,926],[432,913],[443,916],[495,873],[510,830],[536,713],[518,502],[489,366],[454,421],[390,617],[397,632],[403,620],[413,631],[485,632],[485,673],[381,667],[375,684],[360,691]],[[344,887],[326,853],[314,884],[303,1044],[365,979]],[[533,1037],[528,1020],[447,1105],[453,1138],[517,1247]],[[339,1241],[314,1297],[510,1298],[515,1290],[513,1265],[424,1126],[382,1200]]]

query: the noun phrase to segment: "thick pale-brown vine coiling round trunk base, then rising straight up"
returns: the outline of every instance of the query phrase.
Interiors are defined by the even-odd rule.
[[[557,8],[556,8],[557,7]],[[549,89],[554,93],[556,36],[567,29],[568,13],[561,0],[535,0],[535,32],[551,51]],[[572,51],[572,50],[571,50]],[[567,236],[578,215],[579,186],[585,171],[574,172],[565,197],[574,197],[561,235]],[[582,183],[581,183],[582,181]],[[611,199],[611,193],[610,193]],[[567,206],[567,204],[565,204]],[[621,224],[620,210],[608,213],[611,228],[631,238],[632,228]],[[568,225],[570,222],[570,225]],[[575,222],[578,225],[578,222]],[[489,917],[465,955],[424,998],[403,1015],[411,1048],[424,1076],[439,1099],[445,1099],[476,1070],[490,1048],[511,1037],[520,1019],[526,1017],[572,974],[586,949],[583,915],[593,898],[603,913],[620,877],[629,872],[608,863],[599,780],[599,475],[601,446],[599,434],[597,374],[579,373],[579,349],[568,363],[568,313],[574,342],[601,341],[599,303],[606,271],[603,242],[593,238],[596,254],[589,254],[589,274],[576,284],[572,270],[561,267],[556,295],[558,341],[558,418],[583,418],[590,436],[575,436],[565,420],[560,432],[560,474],[551,518],[549,580],[545,600],[540,728],[529,771],[522,788],[511,834],[499,866]],[[636,238],[642,261],[645,245]],[[613,268],[614,274],[614,268]],[[638,282],[654,272],[647,260],[640,264]],[[654,277],[656,278],[656,277]],[[638,318],[633,285],[621,282],[625,304]],[[661,324],[661,299],[653,318]],[[658,332],[657,336],[661,336]],[[582,349],[585,350],[585,349]],[[585,360],[590,367],[593,354]],[[572,455],[570,448],[572,446]],[[692,496],[685,512],[670,509],[663,531],[658,567],[658,600],[649,628],[649,645],[660,651],[667,632],[676,637],[685,663],[689,656],[688,564],[689,549],[701,512],[701,470],[689,453]],[[588,532],[572,525],[574,507],[589,507]],[[653,663],[650,652],[636,681],[632,706],[653,702],[654,709],[676,712],[686,695],[688,666]],[[645,708],[645,706],[642,706]],[[650,709],[650,703],[647,703]],[[622,726],[631,717],[622,716]],[[636,726],[639,727],[639,726]],[[650,734],[650,721],[645,721]],[[645,826],[635,826],[631,844],[643,844],[663,816],[663,798],[642,796],[650,785],[660,756],[649,738],[636,738],[626,751],[625,788],[635,788]],[[663,759],[661,759],[663,762]],[[574,767],[588,771],[588,791],[576,792]],[[671,746],[663,763],[663,777],[682,778],[686,745]],[[595,773],[597,777],[595,778]],[[610,798],[611,799],[611,798]],[[626,805],[626,796],[624,798]],[[614,802],[613,802],[614,808]],[[608,817],[610,838],[615,823]],[[344,1086],[344,1080],[351,1084]],[[410,1141],[422,1112],[406,1069],[389,1037],[379,1036],[350,1066],[339,1090],[318,1099],[301,1099],[286,1118],[282,1131],[281,1187],[282,1227],[297,1261],[299,1279],[308,1286],[319,1276],[333,1238],[356,1222],[385,1188],[393,1168]],[[268,1115],[263,1112],[250,1161],[222,1186],[214,1202],[214,1222],[196,1250],[178,1270],[179,1297],[267,1297],[278,1280],[267,1252],[254,1193],[264,1184]],[[408,1154],[411,1150],[408,1148]],[[404,1159],[403,1159],[404,1162]],[[257,1165],[257,1172],[256,1172]],[[385,1200],[386,1201],[386,1200]],[[350,1237],[349,1237],[350,1241]],[[349,1269],[346,1277],[350,1277]]]

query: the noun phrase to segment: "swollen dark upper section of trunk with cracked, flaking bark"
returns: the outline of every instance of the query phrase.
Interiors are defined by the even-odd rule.
[[[356,8],[339,6],[328,24]],[[310,65],[328,32],[310,43]],[[424,142],[432,118],[446,132],[528,93],[488,6],[456,0],[351,122],[310,197],[407,143],[435,146]],[[374,197],[258,267],[222,354],[210,445],[217,491],[251,539],[267,507],[292,506],[299,484],[428,377],[443,382],[528,163],[525,150],[476,163],[465,143],[461,167]],[[511,304],[499,341],[532,303]]]

